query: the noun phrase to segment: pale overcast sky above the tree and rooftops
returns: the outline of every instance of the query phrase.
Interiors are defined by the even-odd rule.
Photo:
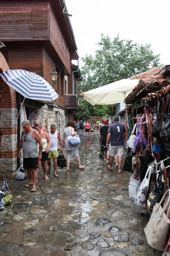
[[[170,0],[65,0],[79,57],[94,54],[101,33],[113,39],[152,44],[161,63],[170,64]],[[157,3],[157,4],[156,4]],[[80,67],[83,63],[80,61]]]

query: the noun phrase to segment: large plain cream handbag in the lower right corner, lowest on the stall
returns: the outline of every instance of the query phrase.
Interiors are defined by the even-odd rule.
[[[169,195],[166,198],[167,194]],[[165,198],[166,200],[162,209],[161,203]],[[167,214],[165,214],[166,210]],[[166,238],[170,226],[170,220],[168,218],[169,212],[170,190],[168,189],[163,195],[160,203],[156,203],[154,206],[150,220],[144,228],[148,244],[156,250],[164,250],[164,247],[166,246]]]

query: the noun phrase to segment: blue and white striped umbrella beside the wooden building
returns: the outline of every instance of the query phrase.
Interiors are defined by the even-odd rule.
[[[26,70],[8,70],[0,73],[3,80],[25,98],[52,101],[58,94],[45,79]]]

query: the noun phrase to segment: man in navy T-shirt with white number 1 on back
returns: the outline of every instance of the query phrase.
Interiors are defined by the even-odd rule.
[[[119,123],[119,117],[113,116],[113,124],[109,126],[106,146],[109,147],[110,164],[107,166],[112,171],[115,153],[118,156],[118,173],[122,173],[122,156],[124,153],[124,141],[126,138],[125,125]],[[110,145],[109,145],[110,141]]]

